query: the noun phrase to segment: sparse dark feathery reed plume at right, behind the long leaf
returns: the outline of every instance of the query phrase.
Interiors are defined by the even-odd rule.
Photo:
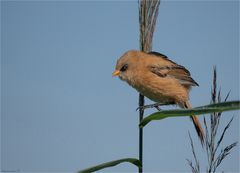
[[[224,101],[227,101],[229,97],[230,92],[228,92],[227,96],[225,97]],[[217,70],[216,67],[214,67],[213,71],[213,88],[211,91],[211,103],[219,103],[221,102],[221,90],[217,92]],[[215,173],[218,166],[222,163],[222,161],[230,154],[230,151],[237,145],[237,142],[234,142],[228,146],[226,146],[224,149],[221,149],[219,151],[219,148],[221,147],[221,144],[223,142],[224,136],[226,131],[229,129],[231,122],[233,120],[233,117],[230,119],[230,121],[227,123],[225,128],[223,129],[220,138],[217,141],[217,133],[220,131],[219,124],[221,120],[221,112],[213,113],[210,115],[209,123],[206,120],[206,117],[204,117],[204,127],[206,131],[205,135],[205,145],[204,148],[206,150],[206,155],[208,158],[208,166],[207,166],[207,172],[208,173]],[[192,169],[193,173],[199,173],[199,161],[196,157],[196,152],[194,149],[194,145],[190,137],[190,143],[192,148],[192,153],[194,157],[195,163],[193,164],[192,161],[188,160],[188,164]]]

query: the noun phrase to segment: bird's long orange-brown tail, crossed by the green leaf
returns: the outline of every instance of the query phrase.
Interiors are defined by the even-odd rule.
[[[191,104],[189,102],[185,102],[184,103],[184,108],[191,109],[192,106],[191,106]],[[201,141],[201,143],[203,145],[204,144],[204,130],[203,130],[202,126],[201,126],[201,123],[198,120],[196,115],[192,115],[191,119],[192,119],[194,127],[195,127],[195,129],[197,131],[198,137],[199,137],[199,139],[200,139],[200,141]]]

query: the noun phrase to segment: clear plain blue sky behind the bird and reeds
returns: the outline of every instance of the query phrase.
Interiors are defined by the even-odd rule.
[[[137,158],[138,93],[111,76],[129,49],[139,49],[136,1],[1,1],[1,169],[74,172]],[[229,100],[239,99],[238,1],[163,1],[153,50],[191,71],[200,85],[193,106],[210,102],[214,65],[223,97],[231,90]],[[224,146],[239,140],[238,111],[224,113],[220,128],[232,116]],[[144,171],[190,171],[188,131],[205,171],[187,117],[144,128]],[[239,172],[239,146],[221,170]],[[104,170],[136,171],[127,163]]]

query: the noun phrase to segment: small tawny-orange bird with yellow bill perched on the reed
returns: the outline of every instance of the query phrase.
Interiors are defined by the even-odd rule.
[[[118,59],[112,75],[119,76],[152,101],[186,109],[191,108],[188,102],[191,87],[198,86],[185,67],[157,52],[127,51]],[[203,144],[202,126],[195,115],[191,119]]]

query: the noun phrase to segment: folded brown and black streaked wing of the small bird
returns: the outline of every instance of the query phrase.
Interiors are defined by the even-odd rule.
[[[164,58],[166,61],[171,62],[170,65],[162,66],[161,64],[154,64],[150,66],[150,71],[159,77],[173,77],[177,79],[180,84],[184,86],[198,86],[198,83],[191,78],[190,72],[183,66],[169,60],[167,56],[150,52],[149,54]]]

